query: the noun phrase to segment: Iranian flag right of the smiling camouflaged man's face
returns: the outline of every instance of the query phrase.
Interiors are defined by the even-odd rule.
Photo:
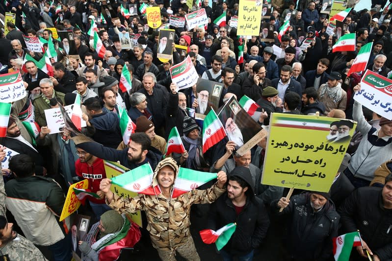
[[[173,185],[172,198],[176,198],[190,190],[195,190],[210,180],[216,179],[216,177],[216,173],[180,167]]]

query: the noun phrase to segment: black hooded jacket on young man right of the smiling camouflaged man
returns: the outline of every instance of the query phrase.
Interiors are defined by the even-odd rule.
[[[235,232],[223,249],[232,255],[244,255],[261,245],[270,222],[264,203],[254,195],[250,170],[244,166],[237,166],[230,175],[247,183],[249,192],[245,192],[247,197],[244,208],[237,215],[232,200],[224,193],[211,205],[208,228],[216,231],[235,222]]]

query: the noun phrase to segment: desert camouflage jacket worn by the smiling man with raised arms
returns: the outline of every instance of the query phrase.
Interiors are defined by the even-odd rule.
[[[190,236],[189,212],[192,204],[214,202],[226,189],[220,189],[215,183],[208,190],[191,190],[177,198],[166,198],[163,194],[139,194],[134,198],[122,198],[114,194],[110,204],[120,213],[132,213],[144,210],[148,219],[147,230],[155,248],[174,251],[186,242]]]

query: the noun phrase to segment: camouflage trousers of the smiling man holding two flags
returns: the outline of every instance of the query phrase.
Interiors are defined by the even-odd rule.
[[[159,257],[162,261],[176,261],[176,251],[184,259],[188,261],[200,261],[199,254],[197,254],[195,243],[193,242],[192,236],[188,236],[185,239],[186,242],[181,246],[177,247],[175,251],[157,249]]]

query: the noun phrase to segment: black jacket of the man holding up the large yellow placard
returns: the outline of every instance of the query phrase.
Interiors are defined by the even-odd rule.
[[[311,192],[292,196],[280,214],[288,214],[287,252],[298,260],[328,260],[332,255],[332,238],[338,236],[340,215],[331,200],[321,210],[314,212]],[[279,211],[278,201],[271,208]]]

